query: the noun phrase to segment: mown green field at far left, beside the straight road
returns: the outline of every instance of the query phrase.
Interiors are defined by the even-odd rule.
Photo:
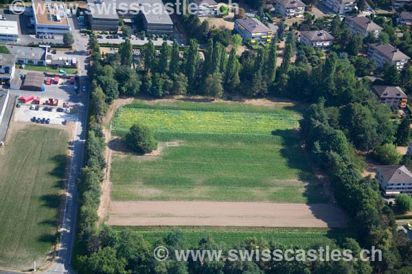
[[[69,134],[38,126],[10,134],[0,149],[0,268],[20,270],[45,263],[58,237]]]

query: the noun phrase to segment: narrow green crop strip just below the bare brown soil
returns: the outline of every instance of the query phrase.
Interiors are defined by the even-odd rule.
[[[114,227],[115,229],[132,229],[135,233],[143,236],[145,240],[154,244],[167,236],[172,230],[161,228],[141,228],[141,227]],[[225,228],[227,229],[227,228]],[[187,247],[196,247],[198,241],[202,238],[209,237],[214,242],[221,245],[234,247],[247,238],[256,238],[257,240],[264,239],[267,242],[274,242],[276,245],[284,245],[286,247],[301,247],[308,248],[313,245],[328,245],[332,241],[340,242],[349,235],[342,229],[306,229],[306,228],[275,228],[265,230],[248,230],[233,228],[229,230],[215,230],[194,228],[181,228],[178,230],[183,232],[183,240]]]

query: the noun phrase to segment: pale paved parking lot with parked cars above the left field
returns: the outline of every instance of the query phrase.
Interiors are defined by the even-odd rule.
[[[30,105],[31,104],[25,104],[21,105],[20,108],[16,108],[14,110],[14,121],[36,123],[33,121],[33,117],[36,117],[36,119],[50,119],[49,124],[51,125],[63,125],[65,124],[64,121],[77,121],[78,118],[77,113],[68,114],[66,112],[57,112],[58,107],[52,107],[52,111],[47,111],[44,110],[48,108],[47,105],[39,105],[39,110],[30,110]],[[66,110],[67,108],[63,109]],[[73,108],[69,109],[76,111],[76,109],[73,110]],[[39,121],[38,123],[42,122]]]

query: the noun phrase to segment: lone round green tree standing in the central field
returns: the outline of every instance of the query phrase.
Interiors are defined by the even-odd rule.
[[[149,153],[157,149],[154,135],[152,129],[146,125],[135,124],[130,127],[130,131],[126,135],[126,142],[130,149],[139,154]]]

